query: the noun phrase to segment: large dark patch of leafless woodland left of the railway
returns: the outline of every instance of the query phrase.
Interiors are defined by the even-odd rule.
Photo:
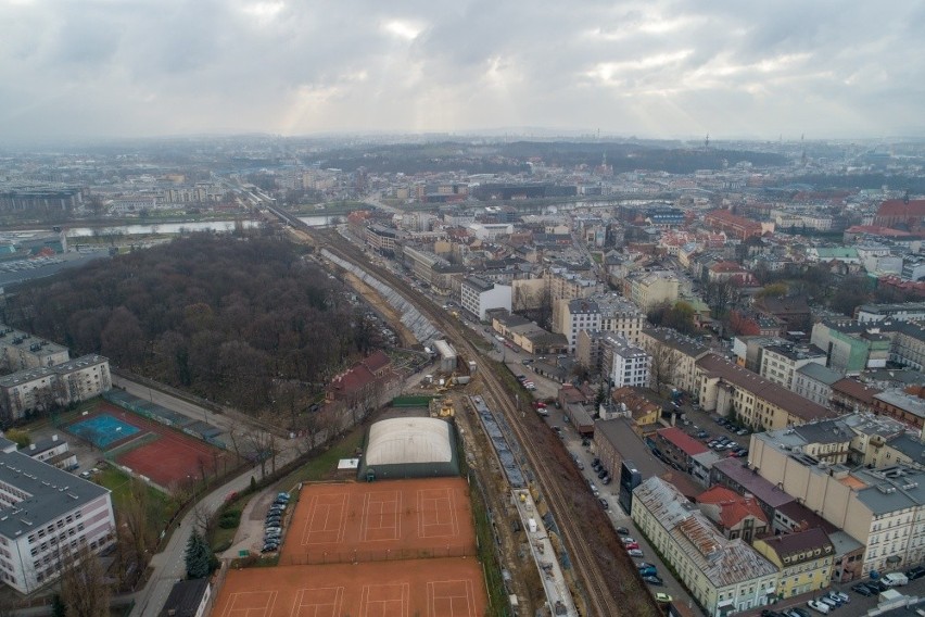
[[[327,275],[266,237],[198,234],[93,262],[21,289],[3,318],[242,410],[296,405],[368,343]]]

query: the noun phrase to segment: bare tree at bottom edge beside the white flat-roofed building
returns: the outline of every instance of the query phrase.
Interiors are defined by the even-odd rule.
[[[59,553],[61,597],[67,617],[109,617],[110,585],[97,554],[86,543]]]

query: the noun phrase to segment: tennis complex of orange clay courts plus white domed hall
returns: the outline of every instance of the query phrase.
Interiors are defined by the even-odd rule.
[[[370,427],[364,451],[375,454],[377,478],[389,479],[368,481],[360,466],[358,481],[304,484],[284,526],[279,565],[228,571],[213,615],[485,614],[453,426],[434,418],[382,420]]]

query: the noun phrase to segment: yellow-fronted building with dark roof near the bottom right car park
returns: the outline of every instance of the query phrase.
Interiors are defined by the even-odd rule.
[[[822,529],[763,538],[752,546],[781,570],[781,600],[828,587],[835,546]]]

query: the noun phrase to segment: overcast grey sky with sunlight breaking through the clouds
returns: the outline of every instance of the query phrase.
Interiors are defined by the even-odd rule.
[[[915,0],[0,0],[0,140],[925,134]]]

